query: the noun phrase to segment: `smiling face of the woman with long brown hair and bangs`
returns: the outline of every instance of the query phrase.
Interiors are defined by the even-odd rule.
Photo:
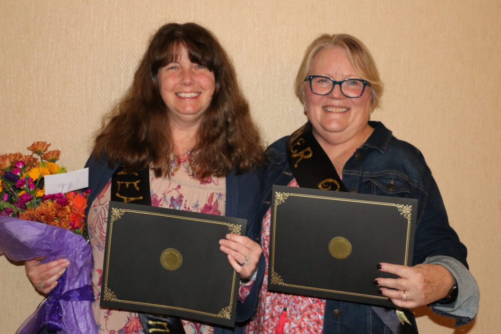
[[[180,47],[178,59],[160,68],[157,78],[171,122],[198,126],[214,94],[214,73],[192,63],[186,48]]]

